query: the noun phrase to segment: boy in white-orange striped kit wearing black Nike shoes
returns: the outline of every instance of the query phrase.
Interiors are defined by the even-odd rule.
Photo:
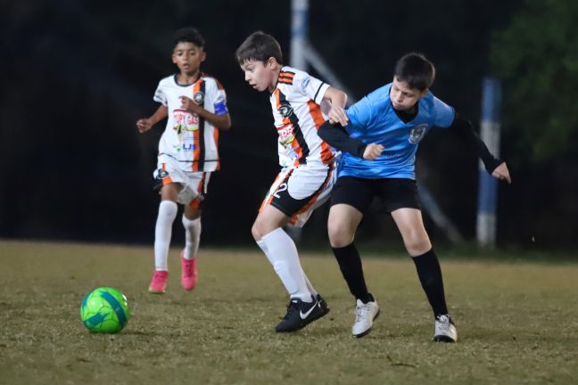
[[[329,308],[303,273],[295,244],[283,226],[301,227],[329,198],[336,152],[317,132],[326,118],[347,121],[343,111],[347,96],[306,72],[284,66],[277,40],[265,33],[247,37],[235,56],[253,89],[268,90],[279,135],[282,169],[261,204],[252,235],[289,292],[287,313],[275,330],[294,332],[326,315]],[[329,109],[327,116],[322,103]]]

